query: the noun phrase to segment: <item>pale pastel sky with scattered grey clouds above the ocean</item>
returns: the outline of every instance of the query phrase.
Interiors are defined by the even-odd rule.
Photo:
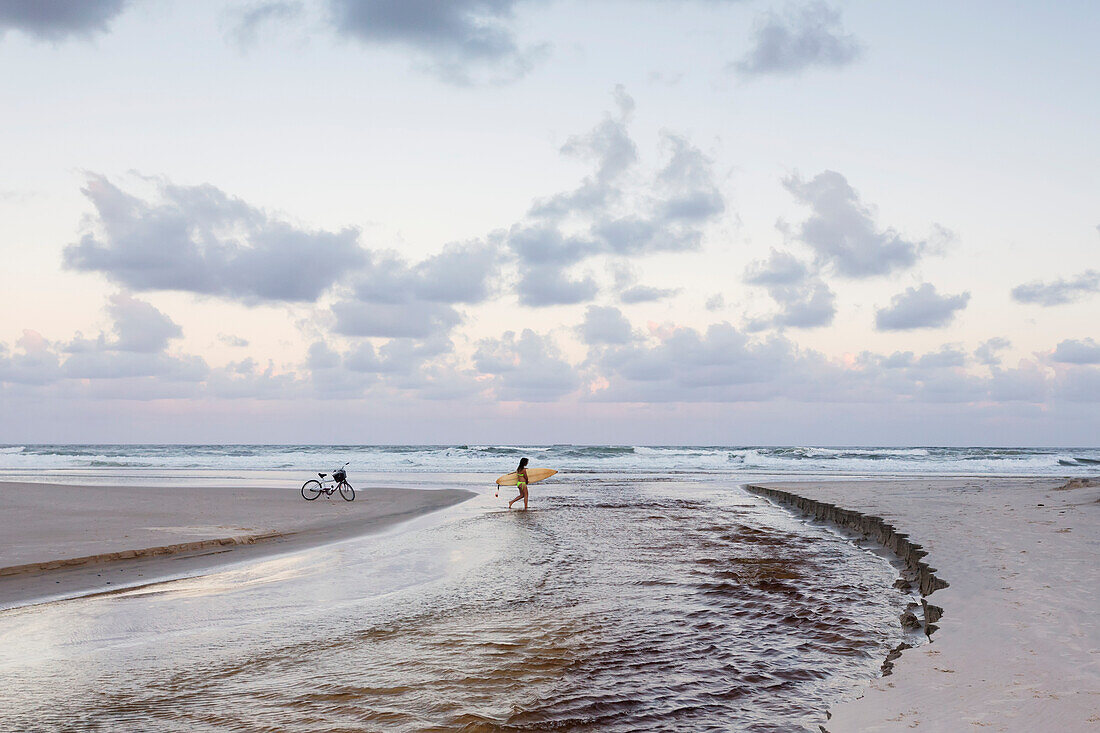
[[[0,441],[1094,446],[1098,36],[0,0]]]

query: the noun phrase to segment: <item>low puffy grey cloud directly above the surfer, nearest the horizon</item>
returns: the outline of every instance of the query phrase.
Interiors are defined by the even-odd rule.
[[[550,402],[581,386],[576,370],[547,337],[525,329],[519,337],[507,331],[499,339],[483,339],[474,364],[492,375],[498,400]]]

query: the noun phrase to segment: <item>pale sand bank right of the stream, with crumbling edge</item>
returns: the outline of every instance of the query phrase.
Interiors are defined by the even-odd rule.
[[[831,733],[1100,727],[1100,485],[956,479],[755,486],[891,547],[932,606],[932,643],[905,650],[893,675],[832,710]]]

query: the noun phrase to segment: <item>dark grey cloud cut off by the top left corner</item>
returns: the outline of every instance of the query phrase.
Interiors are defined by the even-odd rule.
[[[14,30],[45,41],[106,32],[125,0],[0,0],[0,33]]]

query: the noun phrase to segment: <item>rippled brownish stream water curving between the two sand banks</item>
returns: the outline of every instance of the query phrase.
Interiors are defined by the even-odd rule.
[[[539,494],[538,512],[416,540],[480,548],[462,573],[306,621],[276,606],[238,634],[92,654],[79,672],[43,665],[0,692],[19,703],[0,722],[815,731],[900,641],[882,560],[739,492],[585,481]]]

